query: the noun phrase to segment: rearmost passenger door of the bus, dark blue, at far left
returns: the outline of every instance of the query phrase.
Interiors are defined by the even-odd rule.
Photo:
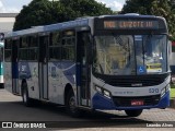
[[[20,38],[13,39],[12,43],[12,93],[20,94],[19,87],[19,44]]]

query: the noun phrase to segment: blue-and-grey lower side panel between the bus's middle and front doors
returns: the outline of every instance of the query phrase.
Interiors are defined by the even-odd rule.
[[[48,85],[49,100],[51,103],[65,103],[65,87],[70,84],[75,87],[75,63],[69,61],[49,62],[48,64]]]

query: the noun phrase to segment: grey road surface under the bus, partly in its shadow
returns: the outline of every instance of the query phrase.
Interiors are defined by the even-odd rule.
[[[125,128],[128,131],[131,131],[132,128],[139,131],[141,128],[143,130],[150,128],[160,130],[161,128],[173,131],[175,128],[175,109],[172,108],[144,110],[137,118],[129,118],[124,111],[88,112],[81,118],[71,118],[67,115],[65,107],[60,106],[39,104],[35,107],[25,107],[20,96],[14,96],[5,90],[0,90],[0,127],[2,127],[2,122],[12,122],[13,128],[43,123],[47,130],[48,128],[51,128],[50,130],[59,128],[78,131],[90,130],[90,128],[97,131],[116,130],[116,128],[118,130]],[[165,127],[163,128],[163,126]],[[16,130],[19,131],[19,128]]]

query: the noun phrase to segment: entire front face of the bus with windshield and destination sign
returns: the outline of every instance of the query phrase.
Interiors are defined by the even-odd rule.
[[[166,108],[168,83],[164,19],[122,15],[94,20],[93,108]]]

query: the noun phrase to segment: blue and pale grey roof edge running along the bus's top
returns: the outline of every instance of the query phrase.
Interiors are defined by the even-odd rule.
[[[16,32],[9,32],[4,34],[5,38],[9,37],[18,37],[21,35],[27,35],[27,34],[35,34],[35,33],[42,33],[42,32],[50,32],[50,31],[57,31],[57,29],[66,29],[71,28],[75,26],[88,26],[89,20],[91,19],[161,19],[165,22],[164,17],[155,16],[155,15],[139,15],[136,13],[128,13],[128,14],[117,14],[117,15],[100,15],[100,16],[88,16],[88,17],[78,17],[74,21],[69,22],[62,22],[62,23],[56,23],[50,25],[42,25],[42,26],[32,26],[27,29],[16,31]]]

